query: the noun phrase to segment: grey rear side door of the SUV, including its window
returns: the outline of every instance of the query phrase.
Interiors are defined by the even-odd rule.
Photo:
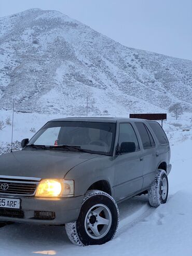
[[[148,188],[155,179],[156,174],[156,150],[155,141],[147,126],[142,122],[135,123],[139,131],[143,146],[143,190]]]

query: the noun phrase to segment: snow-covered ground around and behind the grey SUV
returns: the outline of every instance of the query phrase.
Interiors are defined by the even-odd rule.
[[[11,112],[0,113],[6,119]],[[32,137],[55,116],[16,114],[14,140]],[[120,223],[115,238],[102,246],[77,247],[62,226],[12,224],[0,228],[0,255],[192,255],[192,132],[190,114],[164,123],[171,145],[172,171],[167,204],[149,206],[147,196],[119,204]],[[23,125],[22,125],[23,124]],[[37,124],[37,125],[36,125]],[[190,128],[189,131],[183,131]],[[0,131],[0,143],[10,141],[11,127]]]

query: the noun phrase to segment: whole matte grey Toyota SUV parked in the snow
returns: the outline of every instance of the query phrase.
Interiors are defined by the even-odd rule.
[[[117,230],[117,203],[168,197],[170,145],[159,123],[134,118],[62,118],[22,150],[0,157],[0,225],[65,224],[76,245],[100,245]]]

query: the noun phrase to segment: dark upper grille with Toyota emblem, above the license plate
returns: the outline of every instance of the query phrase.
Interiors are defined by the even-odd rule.
[[[38,182],[0,180],[0,194],[34,195]]]

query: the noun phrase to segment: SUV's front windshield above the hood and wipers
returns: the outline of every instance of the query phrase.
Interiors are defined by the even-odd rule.
[[[48,122],[30,140],[29,145],[51,146],[49,149],[66,150],[77,146],[90,153],[112,155],[115,123]],[[73,147],[67,150],[74,151]]]

